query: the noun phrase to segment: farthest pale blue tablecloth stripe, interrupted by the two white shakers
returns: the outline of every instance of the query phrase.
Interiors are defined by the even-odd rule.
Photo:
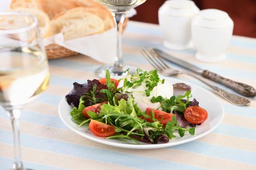
[[[154,35],[154,36],[159,36],[159,37],[164,36],[160,27],[159,27],[159,29],[156,29],[156,28],[151,28],[151,27],[134,26],[133,24],[128,24],[128,26],[126,28],[126,32],[143,34],[143,35]],[[230,41],[230,45],[256,49],[256,41],[253,42],[253,41],[232,38]]]

